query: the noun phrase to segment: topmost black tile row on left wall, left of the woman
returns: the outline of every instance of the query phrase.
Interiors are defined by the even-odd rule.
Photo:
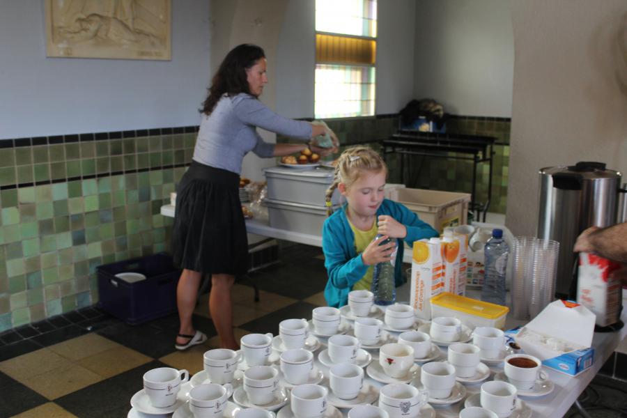
[[[104,139],[159,137],[171,134],[193,134],[198,132],[199,125],[178,127],[157,127],[152,129],[125,130],[113,132],[85,132],[82,134],[51,135],[49,137],[6,138],[0,139],[0,148],[17,148],[20,146],[39,146],[52,144],[70,144],[72,142],[102,141]]]

